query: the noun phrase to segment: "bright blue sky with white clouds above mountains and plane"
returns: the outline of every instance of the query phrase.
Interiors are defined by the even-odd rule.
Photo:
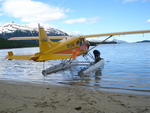
[[[40,23],[71,35],[150,30],[149,11],[150,0],[0,0],[0,25]],[[150,33],[112,39],[150,40]]]

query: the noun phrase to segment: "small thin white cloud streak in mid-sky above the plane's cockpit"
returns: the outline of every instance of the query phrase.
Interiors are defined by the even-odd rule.
[[[64,23],[66,24],[74,24],[74,23],[93,24],[93,23],[96,23],[96,21],[99,19],[101,19],[101,17],[77,18],[77,19],[66,20],[64,21]]]

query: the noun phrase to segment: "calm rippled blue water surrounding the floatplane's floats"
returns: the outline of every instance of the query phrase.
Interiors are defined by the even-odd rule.
[[[34,61],[9,61],[4,59],[8,51],[34,54],[38,48],[0,50],[0,79],[150,94],[150,43],[108,44],[96,49],[105,60],[102,69],[83,75],[78,73],[82,68],[78,66],[45,77],[41,74],[43,68],[60,60],[47,61],[44,65]],[[83,58],[78,57],[78,60]]]

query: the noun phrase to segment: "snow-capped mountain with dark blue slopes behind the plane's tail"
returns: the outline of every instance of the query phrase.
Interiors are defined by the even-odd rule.
[[[48,36],[67,36],[68,34],[54,28],[45,28]],[[8,39],[10,37],[23,36],[38,36],[38,28],[30,27],[28,25],[19,25],[14,22],[6,23],[0,26],[0,38]]]

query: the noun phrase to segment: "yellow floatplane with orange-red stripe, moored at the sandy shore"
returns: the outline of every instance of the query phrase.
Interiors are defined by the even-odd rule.
[[[56,59],[70,59],[67,62],[61,63],[59,69],[68,67],[68,62],[73,62],[77,56],[83,55],[84,57],[88,52],[94,49],[96,46],[89,49],[89,42],[85,38],[91,37],[102,37],[108,36],[101,43],[108,40],[114,35],[125,35],[125,34],[138,34],[138,33],[150,33],[150,30],[141,30],[141,31],[128,31],[128,32],[117,32],[117,33],[104,33],[104,34],[93,34],[93,35],[83,35],[83,36],[47,36],[43,27],[39,25],[39,37],[13,37],[9,40],[39,40],[39,52],[32,55],[14,55],[12,51],[8,52],[6,56],[9,60],[33,60],[36,62],[44,62],[47,60],[56,60]],[[53,42],[51,39],[61,39],[58,42]],[[99,52],[94,53],[95,61],[99,58]],[[100,60],[101,61],[101,60]],[[96,61],[98,62],[98,61]],[[67,66],[68,65],[68,66]],[[53,70],[50,68],[49,70]],[[56,69],[56,67],[55,67]],[[48,70],[48,69],[47,69]],[[57,71],[57,70],[56,70]],[[43,71],[45,74],[46,70]],[[49,71],[53,72],[53,71]]]

